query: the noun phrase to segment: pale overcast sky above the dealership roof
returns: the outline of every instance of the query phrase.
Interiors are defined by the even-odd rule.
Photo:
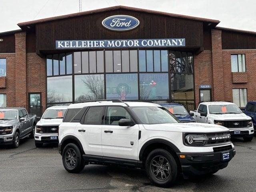
[[[0,32],[17,23],[79,12],[78,0],[0,0]],[[256,32],[256,0],[82,0],[82,11],[131,6],[220,20],[218,26]]]

